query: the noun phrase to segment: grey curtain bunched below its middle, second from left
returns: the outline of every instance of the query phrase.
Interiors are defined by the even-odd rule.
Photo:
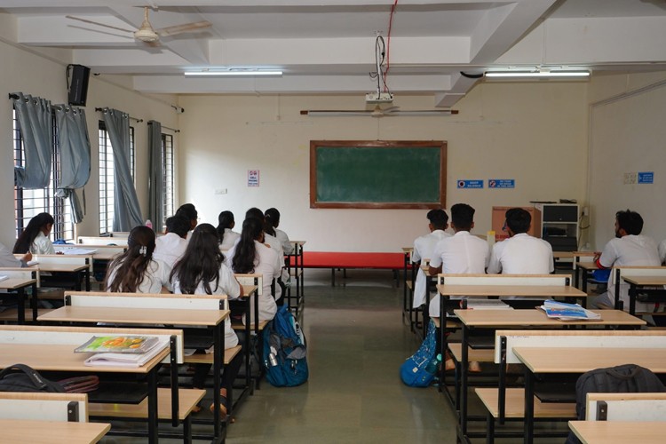
[[[59,105],[55,107],[60,142],[60,183],[56,196],[68,198],[72,222],[83,220],[83,208],[75,188],[81,188],[91,177],[91,142],[82,108]],[[85,204],[85,196],[83,196]]]

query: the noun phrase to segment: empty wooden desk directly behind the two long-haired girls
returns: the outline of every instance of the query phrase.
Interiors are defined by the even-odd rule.
[[[107,293],[113,295],[113,293]],[[142,294],[123,294],[124,297],[145,297]],[[154,295],[155,296],[155,295]],[[164,295],[164,297],[198,297],[219,298],[218,295]],[[223,297],[224,298],[224,297]],[[168,308],[136,308],[136,307],[112,307],[112,306],[72,306],[69,305],[68,297],[65,297],[66,305],[50,313],[43,314],[38,319],[45,322],[111,322],[123,324],[168,324],[180,326],[204,326],[212,329],[213,345],[213,406],[214,417],[221,417],[219,411],[220,373],[224,362],[225,332],[224,321],[229,318],[229,310],[189,310]],[[18,361],[21,362],[21,361]],[[172,381],[178,385],[178,379]],[[228,388],[227,388],[228,390]],[[229,395],[231,397],[231,394]],[[230,398],[231,399],[231,398]],[[177,403],[172,404],[174,407]],[[174,416],[172,416],[173,418]],[[177,425],[177,419],[174,420]],[[221,436],[220,421],[213,422],[214,437]]]

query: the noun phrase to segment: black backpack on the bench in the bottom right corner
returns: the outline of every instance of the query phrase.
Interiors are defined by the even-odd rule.
[[[587,393],[638,393],[666,392],[662,381],[649,369],[636,364],[624,364],[608,369],[596,369],[583,373],[575,383],[575,413],[585,420]],[[567,444],[580,441],[569,433]]]

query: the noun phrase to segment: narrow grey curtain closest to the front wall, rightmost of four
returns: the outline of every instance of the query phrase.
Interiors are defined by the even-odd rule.
[[[148,218],[155,231],[162,231],[164,208],[164,170],[162,160],[162,123],[148,122],[148,150],[150,172],[148,177]]]

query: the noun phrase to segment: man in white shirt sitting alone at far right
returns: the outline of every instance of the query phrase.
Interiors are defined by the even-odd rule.
[[[661,266],[656,243],[641,233],[643,218],[636,211],[626,210],[615,213],[615,239],[608,241],[602,252],[594,255],[594,262],[599,268],[613,266]],[[609,278],[610,282],[610,278]],[[620,299],[624,309],[629,310],[629,284],[620,285]],[[592,301],[592,306],[605,308],[615,305],[615,287],[608,285],[602,293]],[[654,304],[636,303],[638,312],[652,311]]]

